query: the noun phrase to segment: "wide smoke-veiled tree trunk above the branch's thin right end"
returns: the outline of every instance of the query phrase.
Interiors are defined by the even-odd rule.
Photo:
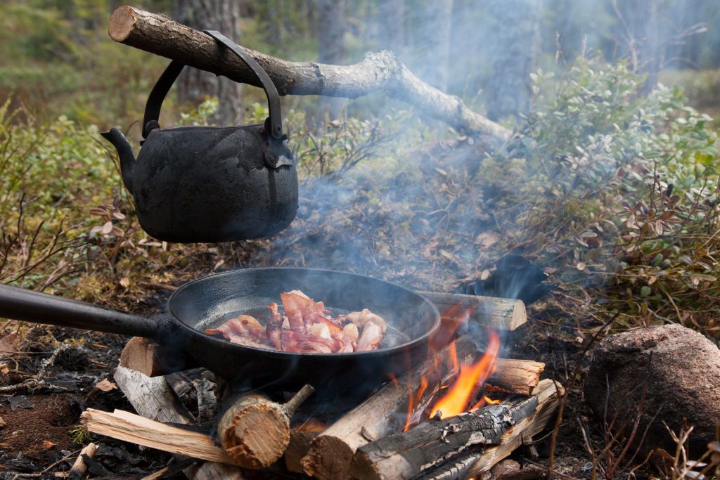
[[[503,119],[530,108],[530,73],[540,53],[541,0],[492,0],[488,9],[496,43],[485,89],[487,116]]]

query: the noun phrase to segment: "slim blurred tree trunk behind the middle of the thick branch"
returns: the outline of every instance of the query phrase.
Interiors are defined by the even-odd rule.
[[[339,65],[345,60],[345,0],[320,0],[320,25],[318,28],[318,61]],[[337,118],[347,104],[346,99],[321,97],[318,118],[328,114]]]

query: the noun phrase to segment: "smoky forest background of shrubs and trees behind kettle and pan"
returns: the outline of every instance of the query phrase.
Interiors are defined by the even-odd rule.
[[[145,234],[99,136],[117,125],[137,151],[168,63],[109,39],[121,4],[0,4],[1,282],[150,312],[168,286],[229,268],[324,267],[449,291],[516,253],[557,282],[528,338],[546,340],[533,348],[566,379],[566,354],[582,360],[579,345],[608,322],[720,340],[719,2],[138,0],[286,60],[392,50],[514,132],[503,145],[470,137],[382,93],[284,97],[297,219],[270,239],[217,245]],[[186,71],[161,124],[261,122],[264,101]],[[573,422],[573,454],[600,453],[598,433],[582,443]],[[603,455],[624,451],[610,447]]]

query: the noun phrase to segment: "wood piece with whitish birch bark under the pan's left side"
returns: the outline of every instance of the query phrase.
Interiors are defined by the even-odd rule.
[[[150,378],[143,373],[119,366],[115,368],[115,383],[138,412],[150,420],[189,424],[191,415],[180,403],[165,377]]]

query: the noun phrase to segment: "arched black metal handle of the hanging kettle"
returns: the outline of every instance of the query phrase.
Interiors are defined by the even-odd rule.
[[[255,60],[252,55],[241,49],[235,42],[230,40],[222,33],[215,30],[205,30],[204,33],[210,35],[217,42],[225,47],[228,47],[230,51],[238,55],[240,60],[243,60],[248,67],[255,73],[262,83],[263,90],[268,99],[268,110],[270,120],[270,132],[269,135],[277,140],[282,140],[282,112],[280,111],[280,96],[277,93],[275,84],[272,83],[270,77],[263,70],[260,64]],[[148,103],[145,104],[145,117],[143,118],[143,138],[147,138],[152,130],[160,127],[158,119],[160,118],[160,109],[163,105],[165,96],[170,91],[170,87],[175,83],[176,78],[180,75],[180,72],[184,68],[185,64],[177,60],[172,60],[167,66],[163,74],[158,78],[158,81],[153,86],[153,90],[150,91],[148,96]]]

